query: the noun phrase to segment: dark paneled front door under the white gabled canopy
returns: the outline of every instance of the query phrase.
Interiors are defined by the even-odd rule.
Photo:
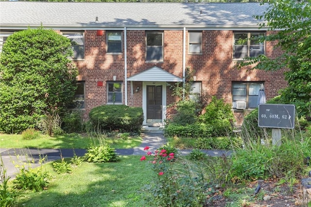
[[[147,86],[147,120],[162,119],[162,86]]]

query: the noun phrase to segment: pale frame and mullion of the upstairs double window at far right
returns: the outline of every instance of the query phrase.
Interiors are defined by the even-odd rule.
[[[245,39],[238,39],[236,37],[236,35],[239,35],[239,34],[244,34],[246,35],[247,37]],[[266,48],[265,48],[265,42],[259,42],[259,44],[252,44],[252,35],[265,35],[265,33],[263,32],[234,32],[233,33],[233,59],[234,60],[242,60],[243,58],[245,57],[257,57],[259,56],[260,54],[265,54],[265,51],[266,51]],[[236,44],[238,41],[241,41],[241,44]],[[244,43],[244,44],[242,44]],[[245,44],[246,43],[246,44]],[[236,47],[245,47],[245,55],[244,56],[241,56],[240,57],[236,57]],[[255,48],[254,48],[255,47]],[[260,48],[260,49],[258,49]],[[259,54],[257,55],[252,55],[252,52],[259,52]],[[238,52],[237,52],[238,53]]]

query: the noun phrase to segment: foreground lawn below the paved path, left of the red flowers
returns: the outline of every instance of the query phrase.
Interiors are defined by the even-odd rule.
[[[52,171],[55,177],[48,190],[26,191],[17,206],[27,207],[139,207],[139,189],[151,181],[151,168],[140,162],[140,156],[121,156],[119,162],[88,163],[75,167],[70,174]]]

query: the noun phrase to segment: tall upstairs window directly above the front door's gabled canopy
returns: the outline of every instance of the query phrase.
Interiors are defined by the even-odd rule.
[[[163,32],[146,33],[146,61],[163,61]]]

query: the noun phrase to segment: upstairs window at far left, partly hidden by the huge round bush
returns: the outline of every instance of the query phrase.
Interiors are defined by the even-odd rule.
[[[73,59],[84,59],[84,34],[83,33],[67,33],[63,35],[70,39],[73,49]]]

